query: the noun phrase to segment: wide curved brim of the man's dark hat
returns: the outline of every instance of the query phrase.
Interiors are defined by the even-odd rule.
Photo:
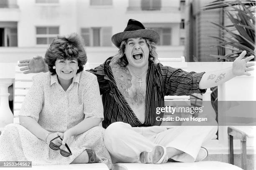
[[[159,34],[155,30],[150,29],[142,29],[142,30],[135,30],[135,31],[124,31],[119,32],[112,36],[111,40],[113,44],[120,48],[121,42],[128,38],[134,38],[134,37],[142,37],[142,38],[148,38],[152,41],[154,41],[156,44],[159,42]]]

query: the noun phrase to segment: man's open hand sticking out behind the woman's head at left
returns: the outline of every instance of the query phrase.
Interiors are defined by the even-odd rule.
[[[45,64],[44,59],[41,56],[20,60],[18,66],[22,67],[20,68],[20,71],[24,71],[24,74],[48,71],[48,66]]]

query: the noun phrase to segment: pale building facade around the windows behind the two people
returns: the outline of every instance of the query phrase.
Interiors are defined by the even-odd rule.
[[[43,55],[48,45],[36,45],[36,26],[59,26],[59,34],[72,32],[80,34],[81,28],[112,27],[112,34],[122,32],[130,18],[142,23],[166,24],[172,28],[172,46],[159,46],[160,57],[184,55],[184,47],[179,46],[179,22],[181,12],[179,0],[162,0],[162,10],[127,10],[129,2],[139,0],[113,0],[113,5],[91,6],[90,0],[59,0],[58,4],[36,4],[35,0],[17,0],[18,8],[0,10],[0,21],[18,22],[18,48],[1,47],[0,63]],[[166,10],[167,9],[167,10]],[[1,15],[3,14],[3,15]],[[8,16],[10,15],[10,16]],[[114,55],[114,47],[86,47],[90,62],[103,62]]]

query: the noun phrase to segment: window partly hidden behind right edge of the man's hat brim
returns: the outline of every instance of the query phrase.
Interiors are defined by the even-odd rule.
[[[172,45],[172,29],[171,28],[148,28],[155,30],[160,35],[158,45]]]

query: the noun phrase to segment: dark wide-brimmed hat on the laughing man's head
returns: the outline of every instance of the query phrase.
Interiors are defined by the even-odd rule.
[[[155,30],[146,29],[139,21],[130,19],[125,30],[113,35],[111,40],[116,47],[120,48],[123,40],[135,37],[148,38],[156,44],[160,39],[159,34]]]

